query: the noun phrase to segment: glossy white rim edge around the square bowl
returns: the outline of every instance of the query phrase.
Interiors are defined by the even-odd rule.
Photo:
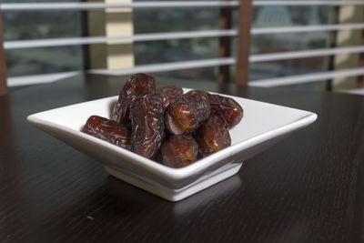
[[[184,88],[185,90],[190,90],[189,88]],[[227,96],[224,94],[219,94],[219,93],[214,93],[214,92],[209,92],[210,94],[217,94],[217,95],[222,95],[222,96]],[[78,106],[80,104],[86,104],[88,102],[96,102],[96,101],[101,101],[101,100],[108,100],[108,99],[112,99],[115,98],[116,96],[109,96],[109,97],[104,97],[104,98],[99,98],[99,99],[95,99],[95,100],[91,100],[91,101],[86,101],[86,102],[80,102],[80,103],[76,103],[74,105],[70,105],[70,106]],[[238,97],[238,96],[228,96],[228,97]],[[243,98],[243,97],[238,97],[238,98],[242,98],[242,99],[247,99],[247,98]],[[251,100],[254,102],[258,102],[258,103],[264,103],[264,104],[268,104],[268,105],[272,105],[272,106],[278,106],[275,104],[270,104],[267,102],[261,102],[261,101],[256,101],[253,99],[247,99],[247,100]],[[235,145],[232,145],[230,147],[226,147],[220,151],[217,151],[216,153],[209,155],[207,157],[198,159],[196,163],[193,163],[191,165],[188,165],[187,167],[180,167],[180,168],[174,168],[174,167],[167,167],[163,164],[160,164],[154,160],[148,159],[146,157],[142,157],[137,155],[134,152],[131,152],[125,148],[122,147],[117,147],[116,145],[113,145],[109,142],[106,142],[102,139],[96,138],[96,137],[92,137],[90,135],[87,135],[85,133],[82,133],[79,130],[70,128],[70,127],[66,127],[63,125],[59,125],[56,124],[54,122],[50,122],[45,120],[44,118],[41,118],[39,116],[41,116],[42,114],[45,114],[47,112],[56,110],[56,109],[62,109],[62,108],[66,108],[67,106],[61,106],[61,107],[57,107],[55,109],[49,109],[49,110],[45,110],[42,112],[38,112],[35,114],[32,114],[30,116],[26,117],[26,120],[34,125],[35,127],[48,127],[50,129],[56,129],[57,131],[61,131],[61,132],[65,132],[67,135],[70,135],[72,137],[79,137],[80,139],[93,143],[96,146],[102,146],[105,149],[109,150],[110,152],[125,157],[128,163],[136,163],[136,167],[143,167],[144,169],[147,169],[148,172],[155,174],[157,176],[160,177],[167,177],[170,179],[183,179],[186,177],[189,177],[191,175],[195,175],[200,173],[201,171],[207,169],[208,167],[212,167],[214,164],[216,164],[218,161],[227,158],[229,156],[232,156],[233,154],[237,154],[249,147],[254,147],[257,146],[258,144],[267,141],[269,139],[272,139],[274,137],[278,137],[284,134],[287,134],[291,131],[294,131],[300,127],[306,127],[308,126],[310,123],[313,123],[316,119],[317,119],[317,115],[315,113],[306,111],[306,110],[301,110],[301,109],[295,109],[295,108],[291,108],[288,106],[281,106],[281,107],[285,107],[285,108],[289,108],[289,109],[295,109],[298,110],[300,112],[302,112],[302,117],[298,118],[297,120],[290,122],[288,124],[285,124],[281,127],[277,127],[275,129],[263,132],[261,134],[258,134],[257,136],[254,137],[250,137],[248,139],[245,139],[243,141],[238,142]],[[304,116],[304,114],[306,113],[306,116]],[[100,161],[100,163],[103,163],[102,161]]]

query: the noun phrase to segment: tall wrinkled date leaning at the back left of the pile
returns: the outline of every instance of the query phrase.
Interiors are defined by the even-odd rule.
[[[119,94],[111,119],[120,124],[128,124],[130,122],[130,103],[133,99],[136,96],[154,95],[155,93],[156,79],[153,76],[146,74],[130,76]]]

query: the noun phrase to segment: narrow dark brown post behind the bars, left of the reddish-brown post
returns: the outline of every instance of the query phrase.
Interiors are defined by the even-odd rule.
[[[227,0],[220,0],[227,1]],[[219,29],[231,29],[232,27],[232,11],[230,7],[220,8]],[[218,43],[218,57],[227,57],[231,55],[231,37],[222,36]],[[218,83],[227,83],[230,80],[230,66],[218,66]]]

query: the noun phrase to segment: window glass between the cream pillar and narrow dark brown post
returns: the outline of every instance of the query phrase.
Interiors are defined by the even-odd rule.
[[[217,8],[136,9],[135,33],[218,29]],[[134,44],[136,65],[216,58],[217,38],[194,38]],[[217,80],[217,68],[194,68],[155,74],[177,79]]]

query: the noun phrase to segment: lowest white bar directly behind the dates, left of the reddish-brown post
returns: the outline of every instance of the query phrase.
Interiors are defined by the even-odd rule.
[[[122,76],[134,73],[157,73],[157,72],[166,72],[166,71],[182,70],[189,68],[208,67],[208,66],[228,66],[235,64],[236,64],[235,58],[225,57],[225,58],[213,58],[213,59],[204,59],[197,61],[194,60],[194,61],[181,61],[173,63],[160,63],[152,65],[141,65],[123,69],[111,69],[111,70],[93,69],[93,70],[88,70],[88,73],[97,75]]]

